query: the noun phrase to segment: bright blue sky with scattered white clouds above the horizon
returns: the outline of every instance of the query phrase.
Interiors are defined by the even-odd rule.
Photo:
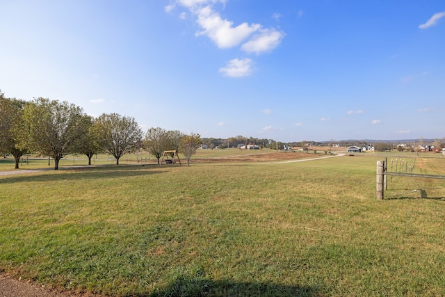
[[[445,137],[443,0],[0,0],[0,89],[203,137]]]

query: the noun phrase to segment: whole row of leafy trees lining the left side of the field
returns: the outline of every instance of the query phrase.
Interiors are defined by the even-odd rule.
[[[147,150],[159,163],[165,150],[182,152],[190,159],[201,144],[200,134],[150,128],[143,134],[134,118],[104,113],[93,118],[68,102],[36,98],[31,102],[7,98],[0,90],[0,153],[12,154],[15,168],[27,153],[49,156],[58,169],[67,154],[85,154],[88,165],[98,153],[114,156],[116,164],[124,154]]]

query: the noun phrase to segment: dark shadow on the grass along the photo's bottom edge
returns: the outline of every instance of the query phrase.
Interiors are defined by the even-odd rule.
[[[316,287],[286,286],[261,282],[233,282],[232,280],[206,280],[203,278],[178,278],[168,287],[153,294],[138,297],[161,296],[323,296]]]

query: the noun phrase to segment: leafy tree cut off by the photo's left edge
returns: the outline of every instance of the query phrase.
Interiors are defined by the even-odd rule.
[[[15,169],[19,168],[20,158],[28,152],[20,141],[24,138],[24,104],[22,100],[4,97],[0,90],[0,153],[14,156]]]

